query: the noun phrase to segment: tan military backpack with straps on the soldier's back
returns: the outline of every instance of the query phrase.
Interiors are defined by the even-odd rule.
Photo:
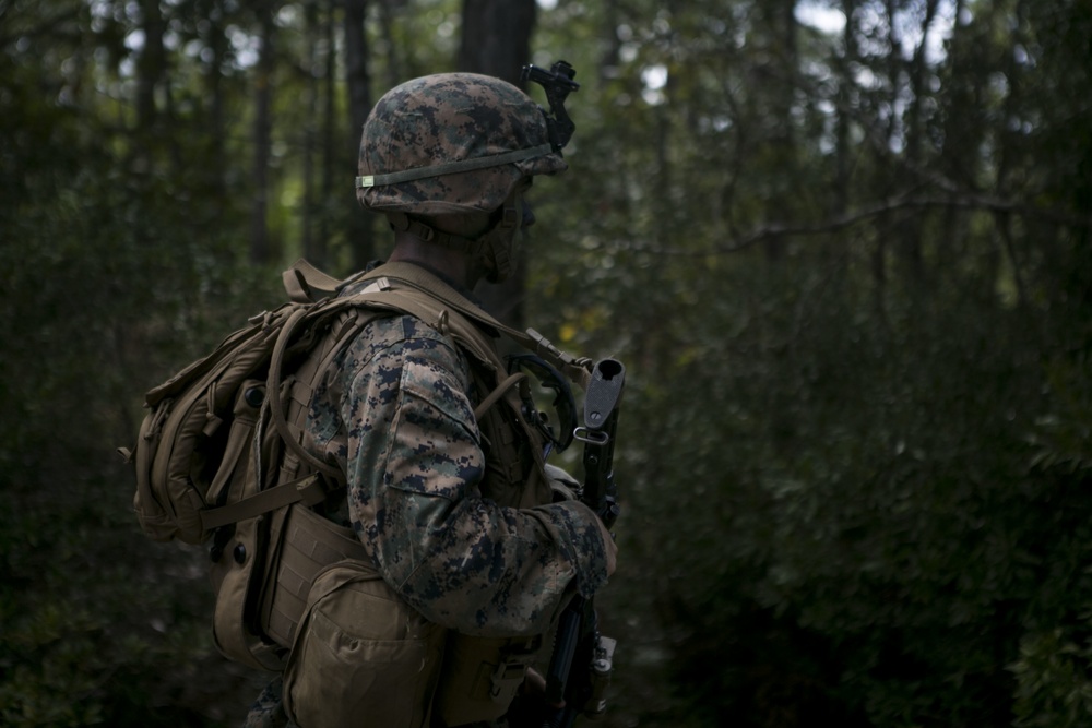
[[[297,609],[287,610],[283,624],[284,605],[273,597],[285,595],[270,588],[270,574],[286,556],[284,535],[304,517],[289,518],[289,506],[318,505],[344,487],[336,467],[299,444],[300,426],[287,421],[286,403],[309,399],[324,363],[355,331],[384,310],[401,310],[397,296],[369,298],[297,300],[253,317],[151,390],[136,445],[120,450],[135,466],[133,506],[145,535],[210,545],[216,644],[252,667],[281,669],[298,621],[292,612],[306,596],[301,584]],[[328,551],[364,556],[351,532],[339,534],[332,523],[325,530],[318,540],[329,541]]]

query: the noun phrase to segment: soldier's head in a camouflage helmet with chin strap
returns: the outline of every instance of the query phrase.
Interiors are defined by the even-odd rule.
[[[395,230],[463,250],[498,282],[534,219],[523,202],[532,178],[566,166],[542,109],[522,91],[490,76],[440,73],[395,86],[376,104],[360,139],[356,194]]]

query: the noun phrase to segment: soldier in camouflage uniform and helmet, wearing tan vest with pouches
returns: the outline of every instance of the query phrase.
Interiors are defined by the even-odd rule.
[[[558,496],[468,291],[511,274],[533,177],[566,167],[543,110],[497,79],[416,79],[368,117],[357,195],[388,216],[394,248],[341,295],[423,291],[452,325],[371,321],[316,387],[304,442],[347,482],[325,515],[367,558],[331,576],[329,594],[312,589],[284,681],[248,728],[514,728],[541,701],[533,666],[549,658],[555,620],[606,582],[616,547],[590,509]]]

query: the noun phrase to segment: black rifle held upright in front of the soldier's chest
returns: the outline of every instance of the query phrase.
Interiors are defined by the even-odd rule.
[[[619,513],[614,447],[625,385],[626,368],[620,361],[597,361],[584,393],[584,423],[573,432],[584,443],[580,501],[595,511],[607,528],[614,526]],[[546,717],[544,728],[569,728],[579,713],[602,717],[615,645],[615,640],[600,634],[592,600],[574,596],[558,622],[546,673],[546,705],[547,711],[553,707],[553,714]]]

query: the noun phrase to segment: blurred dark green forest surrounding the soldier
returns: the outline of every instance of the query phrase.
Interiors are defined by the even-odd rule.
[[[629,369],[605,725],[1092,725],[1090,39],[1088,0],[0,0],[0,724],[238,725],[265,677],[114,449],[293,260],[385,254],[380,94],[563,58],[490,306]]]

